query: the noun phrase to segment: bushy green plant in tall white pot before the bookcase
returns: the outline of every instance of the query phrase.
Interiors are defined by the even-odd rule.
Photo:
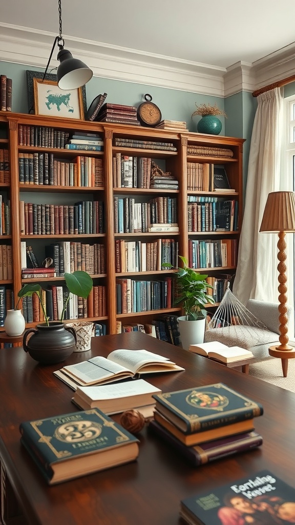
[[[188,350],[190,344],[204,341],[206,310],[205,304],[214,304],[215,300],[209,295],[208,288],[213,288],[206,281],[205,274],[189,268],[187,259],[180,256],[183,268],[177,269],[176,299],[174,304],[182,303],[185,316],[177,318],[180,328],[182,346]]]

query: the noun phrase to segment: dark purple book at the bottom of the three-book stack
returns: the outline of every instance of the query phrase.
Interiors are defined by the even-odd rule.
[[[156,434],[175,448],[188,460],[189,465],[192,467],[199,467],[216,459],[233,456],[234,454],[259,447],[263,441],[262,436],[253,430],[252,432],[227,436],[222,439],[215,439],[214,441],[188,447],[156,421],[151,421],[148,428],[149,432]]]

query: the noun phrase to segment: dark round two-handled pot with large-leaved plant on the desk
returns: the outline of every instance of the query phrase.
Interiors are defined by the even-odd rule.
[[[86,271],[74,271],[72,274],[65,273],[66,286],[70,293],[87,299],[92,289],[93,282]],[[18,292],[18,297],[23,298],[36,293],[44,313],[45,322],[39,323],[36,329],[31,328],[24,335],[24,350],[40,363],[59,363],[64,361],[74,350],[77,341],[75,329],[68,327],[62,321],[69,302],[69,296],[64,301],[59,321],[49,321],[46,316],[45,304],[41,297],[42,288],[39,284],[28,283]],[[32,334],[32,335],[30,335]],[[30,337],[28,337],[30,335]]]

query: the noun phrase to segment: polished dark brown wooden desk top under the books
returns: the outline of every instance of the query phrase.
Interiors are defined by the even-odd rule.
[[[40,365],[22,348],[0,350],[0,455],[30,524],[175,525],[182,498],[256,471],[269,469],[293,484],[295,394],[140,332],[92,341],[90,351],[57,365]],[[265,413],[255,420],[262,447],[192,468],[145,428],[133,463],[48,486],[20,445],[19,423],[74,412],[73,391],[52,371],[117,348],[145,348],[184,366],[185,372],[145,376],[163,392],[220,381],[262,403]]]

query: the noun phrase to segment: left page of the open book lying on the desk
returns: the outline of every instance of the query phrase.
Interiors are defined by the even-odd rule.
[[[93,383],[103,380],[105,377],[111,377],[114,374],[131,372],[118,363],[109,361],[101,356],[82,361],[81,363],[64,366],[62,372],[78,377],[84,383]]]

